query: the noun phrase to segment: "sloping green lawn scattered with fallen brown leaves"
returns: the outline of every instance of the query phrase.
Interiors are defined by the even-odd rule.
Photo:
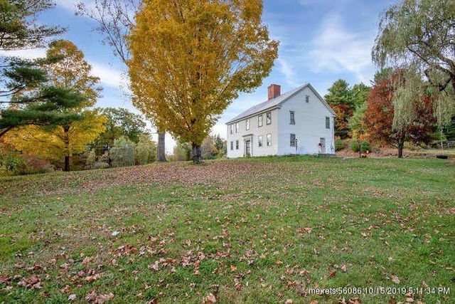
[[[453,303],[454,197],[455,164],[438,159],[269,157],[3,177],[0,303],[200,303],[210,293],[222,303]],[[400,289],[309,294],[318,286]],[[402,294],[427,286],[450,294]]]

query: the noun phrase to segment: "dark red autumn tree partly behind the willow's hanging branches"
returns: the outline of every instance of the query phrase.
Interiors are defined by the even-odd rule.
[[[395,108],[392,100],[395,79],[396,76],[379,80],[371,90],[367,100],[365,126],[371,141],[396,147],[398,157],[402,157],[405,142],[419,144],[432,141],[436,119],[433,115],[432,99],[427,97],[424,100],[415,100],[412,104],[412,110],[417,117],[414,121],[400,127],[400,130],[394,128]]]

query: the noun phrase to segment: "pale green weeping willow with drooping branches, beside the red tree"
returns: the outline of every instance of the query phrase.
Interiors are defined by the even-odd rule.
[[[416,118],[410,105],[430,93],[439,130],[454,115],[455,1],[404,0],[380,21],[373,61],[402,70],[397,78],[394,127]],[[427,81],[422,82],[422,78]]]

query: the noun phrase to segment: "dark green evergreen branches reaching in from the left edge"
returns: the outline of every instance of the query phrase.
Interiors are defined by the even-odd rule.
[[[29,17],[53,6],[48,0],[0,0],[0,49],[18,50],[36,48],[45,44],[45,38],[63,32],[63,29],[38,26]],[[43,63],[58,61],[22,61],[1,58],[0,74],[0,137],[26,125],[55,125],[80,120],[82,117],[68,110],[83,102],[77,93],[50,85]]]

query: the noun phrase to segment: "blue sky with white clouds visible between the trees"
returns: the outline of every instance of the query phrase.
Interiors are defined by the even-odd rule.
[[[101,36],[92,31],[92,23],[75,16],[77,0],[57,0],[57,6],[41,14],[41,23],[65,26],[62,38],[73,41],[101,78],[103,97],[100,107],[134,109],[126,84],[125,67],[114,57]],[[86,1],[90,5],[91,0]],[[255,93],[240,95],[225,110],[213,134],[226,136],[224,123],[252,105],[267,99],[267,86],[282,85],[282,92],[311,83],[325,95],[333,81],[343,78],[349,83],[369,83],[375,73],[370,51],[382,13],[397,1],[391,0],[264,0],[264,23],[272,38],[280,41],[279,58],[272,73]],[[2,52],[1,54],[5,54]],[[44,49],[13,52],[22,57],[43,56]],[[9,53],[11,55],[11,53]],[[155,136],[156,138],[156,136]],[[166,150],[175,142],[166,138]]]

